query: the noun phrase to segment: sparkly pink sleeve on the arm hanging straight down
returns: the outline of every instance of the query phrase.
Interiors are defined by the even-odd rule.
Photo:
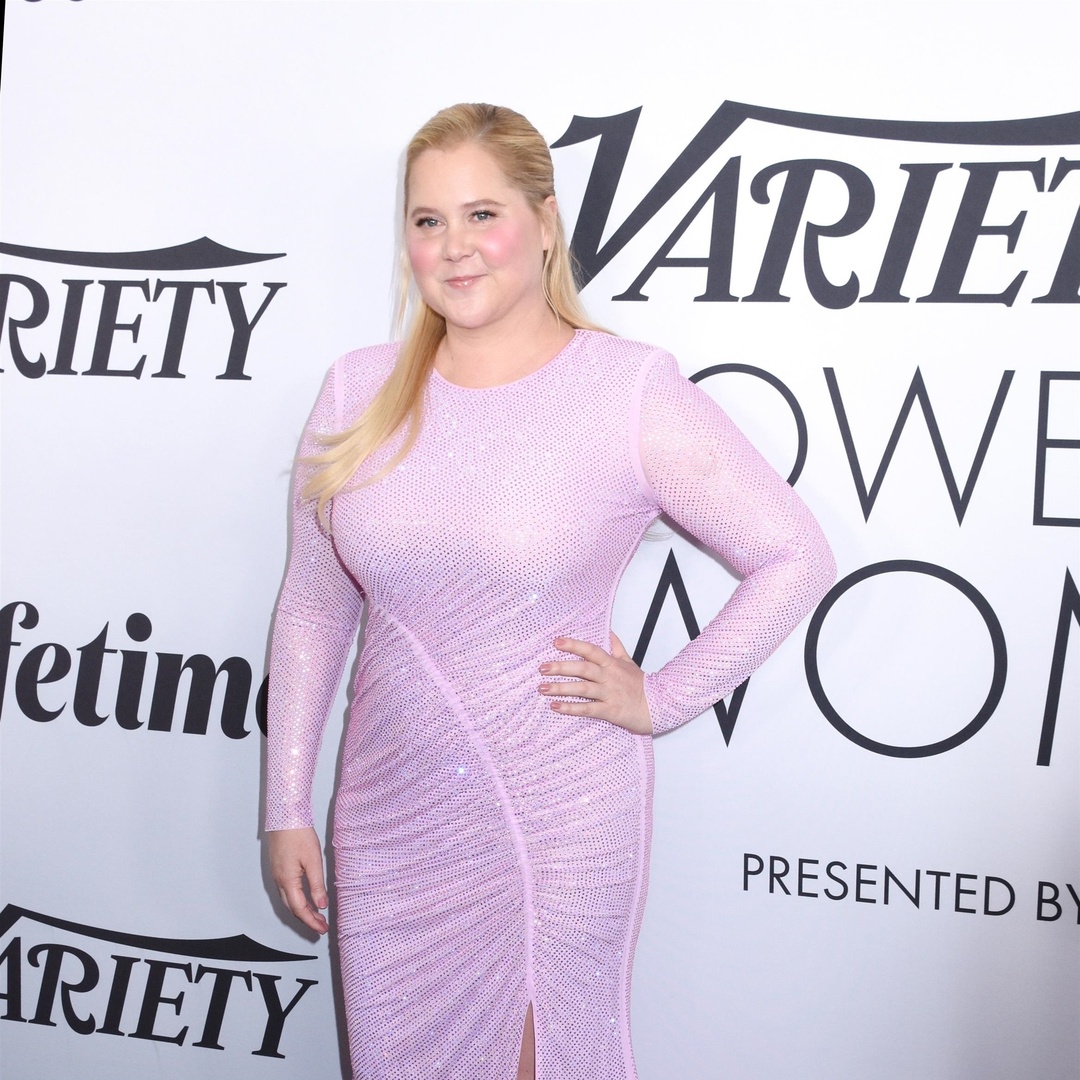
[[[338,367],[308,421],[293,477],[288,569],[274,615],[267,702],[266,827],[312,824],[311,785],[326,718],[356,637],[363,596],[341,565],[313,502],[300,490],[303,458],[320,453],[316,434],[339,427]]]

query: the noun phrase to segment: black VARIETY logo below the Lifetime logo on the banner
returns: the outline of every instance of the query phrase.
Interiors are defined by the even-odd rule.
[[[12,933],[16,928],[19,933]],[[316,957],[282,953],[245,934],[149,937],[8,904],[0,912],[0,940],[5,941],[0,1020],[64,1025],[79,1035],[225,1050],[226,1029],[255,1031],[260,1035],[252,1054],[284,1057],[285,1024],[319,985],[314,978],[288,981],[273,968],[265,970]]]

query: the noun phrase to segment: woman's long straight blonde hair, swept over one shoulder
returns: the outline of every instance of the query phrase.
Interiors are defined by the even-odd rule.
[[[538,215],[546,214],[546,200],[555,193],[551,153],[540,133],[513,109],[498,105],[451,105],[436,112],[417,133],[405,152],[405,199],[413,166],[426,150],[447,150],[462,143],[476,143],[496,160],[510,184],[521,191]],[[551,247],[544,252],[542,287],[556,318],[576,329],[599,329],[590,322],[581,301],[570,264],[563,221],[555,215]],[[405,219],[402,227],[404,230]],[[423,391],[435,362],[435,352],[446,336],[446,321],[416,295],[416,286],[402,244],[402,288],[397,305],[399,329],[408,321],[397,361],[390,377],[360,418],[345,431],[321,436],[326,449],[305,459],[314,472],[303,486],[303,497],[316,502],[327,522],[329,500],[345,489],[356,470],[403,427],[405,438],[397,453],[374,476],[355,486],[374,483],[389,473],[413,448],[420,432]],[[408,312],[411,309],[411,316]]]

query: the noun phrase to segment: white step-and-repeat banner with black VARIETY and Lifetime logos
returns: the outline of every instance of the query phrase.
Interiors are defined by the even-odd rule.
[[[494,100],[553,147],[593,316],[678,356],[839,564],[657,742],[643,1080],[1075,1080],[1075,3],[4,28],[5,1078],[347,1075],[333,943],[260,843],[288,473],[328,364],[391,333],[405,143]],[[616,630],[654,669],[734,583],[660,522]]]

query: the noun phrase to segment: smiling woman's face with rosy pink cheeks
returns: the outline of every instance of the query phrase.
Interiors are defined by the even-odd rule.
[[[543,215],[475,143],[424,150],[413,163],[405,237],[420,295],[463,329],[532,324],[555,200]]]

